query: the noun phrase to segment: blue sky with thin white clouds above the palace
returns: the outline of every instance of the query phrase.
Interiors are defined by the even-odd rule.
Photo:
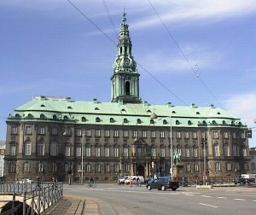
[[[124,8],[143,101],[213,104],[255,130],[253,0],[1,0],[0,140],[32,96],[110,101]]]

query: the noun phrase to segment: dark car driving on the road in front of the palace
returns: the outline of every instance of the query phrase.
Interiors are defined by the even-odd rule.
[[[153,182],[148,183],[146,185],[146,188],[148,190],[150,190],[150,189],[158,189],[158,190],[172,189],[172,190],[176,190],[178,187],[179,187],[178,183],[170,177],[160,177],[160,178],[154,179]]]

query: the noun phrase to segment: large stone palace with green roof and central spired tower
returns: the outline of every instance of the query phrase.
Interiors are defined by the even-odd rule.
[[[109,181],[124,175],[235,177],[248,170],[247,125],[213,105],[152,105],[139,96],[125,14],[111,102],[34,96],[7,119],[4,177]],[[173,163],[173,155],[180,160]],[[34,177],[34,178],[33,178]]]

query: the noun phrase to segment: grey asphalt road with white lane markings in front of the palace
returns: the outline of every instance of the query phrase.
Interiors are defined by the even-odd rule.
[[[254,215],[256,189],[246,187],[195,189],[180,187],[148,190],[117,183],[97,183],[96,189],[84,185],[64,185],[64,195],[90,200],[104,214],[247,214]]]

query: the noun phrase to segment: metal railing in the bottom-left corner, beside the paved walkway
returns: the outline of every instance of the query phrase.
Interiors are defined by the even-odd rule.
[[[0,198],[1,215],[9,215],[14,212],[20,212],[17,214],[23,215],[45,214],[45,210],[49,206],[63,198],[63,184],[1,183]]]

